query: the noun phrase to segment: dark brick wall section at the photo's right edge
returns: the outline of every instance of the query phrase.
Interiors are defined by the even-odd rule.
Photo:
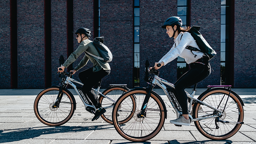
[[[234,86],[255,88],[255,0],[235,0]]]

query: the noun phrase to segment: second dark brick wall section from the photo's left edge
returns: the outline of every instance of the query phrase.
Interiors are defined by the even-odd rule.
[[[18,88],[44,88],[44,1],[17,1]]]

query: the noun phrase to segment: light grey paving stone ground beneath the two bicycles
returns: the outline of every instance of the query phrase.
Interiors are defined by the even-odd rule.
[[[114,126],[87,112],[73,89],[77,106],[68,123],[50,127],[42,124],[33,110],[34,100],[41,89],[0,89],[0,143],[8,144],[256,144],[256,89],[233,89],[244,101],[244,124],[228,140],[205,138],[195,126],[176,127],[169,121],[176,115],[163,91],[154,89],[163,98],[168,113],[162,130],[146,142],[131,142],[121,137]],[[197,89],[196,95],[205,89]],[[188,92],[189,91],[188,89]]]

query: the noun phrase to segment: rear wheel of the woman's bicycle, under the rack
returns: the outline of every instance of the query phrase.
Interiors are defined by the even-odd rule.
[[[198,100],[223,111],[223,114],[218,118],[221,121],[229,122],[218,122],[217,117],[195,121],[197,130],[209,139],[228,139],[236,134],[242,125],[238,123],[244,120],[242,102],[236,96],[235,92],[231,91],[230,95],[229,92],[230,90],[227,88],[213,88],[198,97]],[[214,109],[204,105],[201,106],[200,108],[200,104],[195,104],[195,108],[193,108],[194,118],[218,115]]]

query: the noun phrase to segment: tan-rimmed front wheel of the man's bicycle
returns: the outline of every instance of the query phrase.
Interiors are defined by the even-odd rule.
[[[50,87],[40,92],[34,102],[34,112],[39,121],[49,126],[59,126],[68,122],[75,111],[72,94],[62,90],[60,105],[52,107],[58,97],[59,87]]]

